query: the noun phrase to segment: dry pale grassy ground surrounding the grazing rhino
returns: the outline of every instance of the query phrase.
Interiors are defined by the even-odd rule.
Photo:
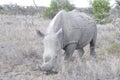
[[[75,51],[68,68],[62,57],[58,74],[39,71],[43,44],[35,30],[45,32],[50,21],[0,15],[0,80],[120,80],[120,31],[112,24],[98,25],[96,59],[87,46],[82,61]]]

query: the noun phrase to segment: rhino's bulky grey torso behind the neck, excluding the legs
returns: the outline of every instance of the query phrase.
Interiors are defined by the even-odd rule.
[[[96,24],[92,18],[78,11],[66,12],[63,17],[64,46],[78,43],[79,47],[84,47],[91,41],[96,31]]]

